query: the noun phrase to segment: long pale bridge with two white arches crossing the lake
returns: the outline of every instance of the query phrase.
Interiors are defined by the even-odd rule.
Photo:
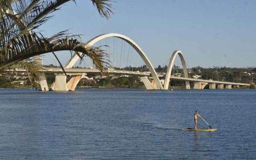
[[[144,64],[149,69],[149,72],[137,72],[137,71],[124,71],[124,70],[108,70],[109,74],[113,75],[136,75],[139,76],[142,82],[144,83],[146,89],[162,89],[167,90],[169,87],[170,80],[182,80],[185,81],[186,88],[190,89],[190,82],[194,82],[194,89],[203,89],[207,84],[209,84],[210,89],[216,89],[216,85],[218,89],[223,89],[224,85],[226,89],[231,89],[232,85],[239,87],[239,86],[249,86],[250,84],[244,83],[234,83],[234,82],[223,82],[223,81],[213,81],[213,80],[203,80],[203,79],[194,79],[188,77],[187,66],[185,63],[185,58],[181,51],[177,50],[174,51],[170,57],[168,69],[166,73],[157,73],[150,62],[149,58],[143,52],[143,50],[137,45],[132,39],[128,38],[127,36],[118,34],[118,33],[108,33],[104,35],[96,36],[95,38],[91,39],[87,42],[88,46],[92,46],[93,44],[99,42],[102,39],[106,39],[108,37],[116,37],[125,42],[127,42],[130,47],[132,47],[137,54],[141,57],[144,61]],[[123,45],[123,42],[122,42]],[[130,48],[129,48],[130,51]],[[122,54],[122,51],[121,51]],[[73,55],[73,57],[68,61],[65,65],[64,70],[67,75],[71,75],[71,79],[66,82],[66,75],[61,68],[44,68],[41,72],[42,75],[39,77],[40,85],[42,91],[49,91],[48,84],[46,77],[44,76],[45,72],[52,72],[55,73],[55,82],[51,85],[51,89],[53,91],[74,91],[75,87],[77,86],[78,82],[86,73],[100,73],[98,69],[80,69],[80,68],[72,68],[75,63],[80,59],[82,53],[78,53]],[[174,66],[174,60],[176,56],[179,55],[181,60],[181,64],[183,67],[184,77],[172,76],[172,68]],[[129,55],[128,55],[129,56]],[[120,58],[121,59],[121,58]],[[128,59],[127,59],[128,61]],[[121,63],[121,62],[120,62]],[[161,84],[159,78],[164,78],[164,84]]]

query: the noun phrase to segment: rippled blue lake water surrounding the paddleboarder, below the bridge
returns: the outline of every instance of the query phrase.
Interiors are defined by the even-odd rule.
[[[0,89],[0,100],[1,160],[256,157],[256,90]],[[218,130],[181,131],[195,110]]]

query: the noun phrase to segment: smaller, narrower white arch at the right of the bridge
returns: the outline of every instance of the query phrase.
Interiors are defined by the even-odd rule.
[[[176,58],[177,55],[179,55],[179,58],[181,59],[181,63],[182,63],[182,67],[183,67],[184,76],[185,76],[185,78],[188,78],[187,65],[186,65],[184,56],[182,55],[182,52],[181,52],[181,51],[174,51],[174,52],[172,53],[171,58],[170,58],[170,62],[169,62],[168,69],[167,69],[167,72],[166,72],[164,89],[168,89],[168,87],[169,87],[170,76],[171,76],[171,72],[172,72],[172,67],[173,67],[173,65],[174,65],[174,60],[175,60],[175,58]],[[186,88],[187,88],[187,89],[190,89],[190,85],[189,85],[189,82],[188,82],[188,81],[186,81]]]

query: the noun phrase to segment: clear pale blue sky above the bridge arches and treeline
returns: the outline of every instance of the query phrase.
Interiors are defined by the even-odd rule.
[[[68,2],[40,29],[70,29],[82,41],[121,33],[157,67],[181,50],[188,67],[256,66],[256,0],[116,0],[109,20],[90,0]],[[69,54],[62,59],[68,59]]]

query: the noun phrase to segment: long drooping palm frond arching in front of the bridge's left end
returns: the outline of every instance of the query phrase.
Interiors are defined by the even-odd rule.
[[[60,32],[53,37],[62,37],[63,35],[65,35],[65,33]],[[104,53],[104,50],[98,47],[90,47],[68,36],[57,40],[53,37],[38,37],[37,34],[33,33],[31,35],[24,34],[16,40],[13,40],[12,46],[9,46],[5,51],[0,50],[0,52],[2,52],[1,55],[4,55],[0,57],[0,69],[36,55],[66,50],[82,53],[81,58],[84,55],[89,56],[95,66],[101,71],[104,71],[107,67],[108,60],[106,57],[108,55]]]

